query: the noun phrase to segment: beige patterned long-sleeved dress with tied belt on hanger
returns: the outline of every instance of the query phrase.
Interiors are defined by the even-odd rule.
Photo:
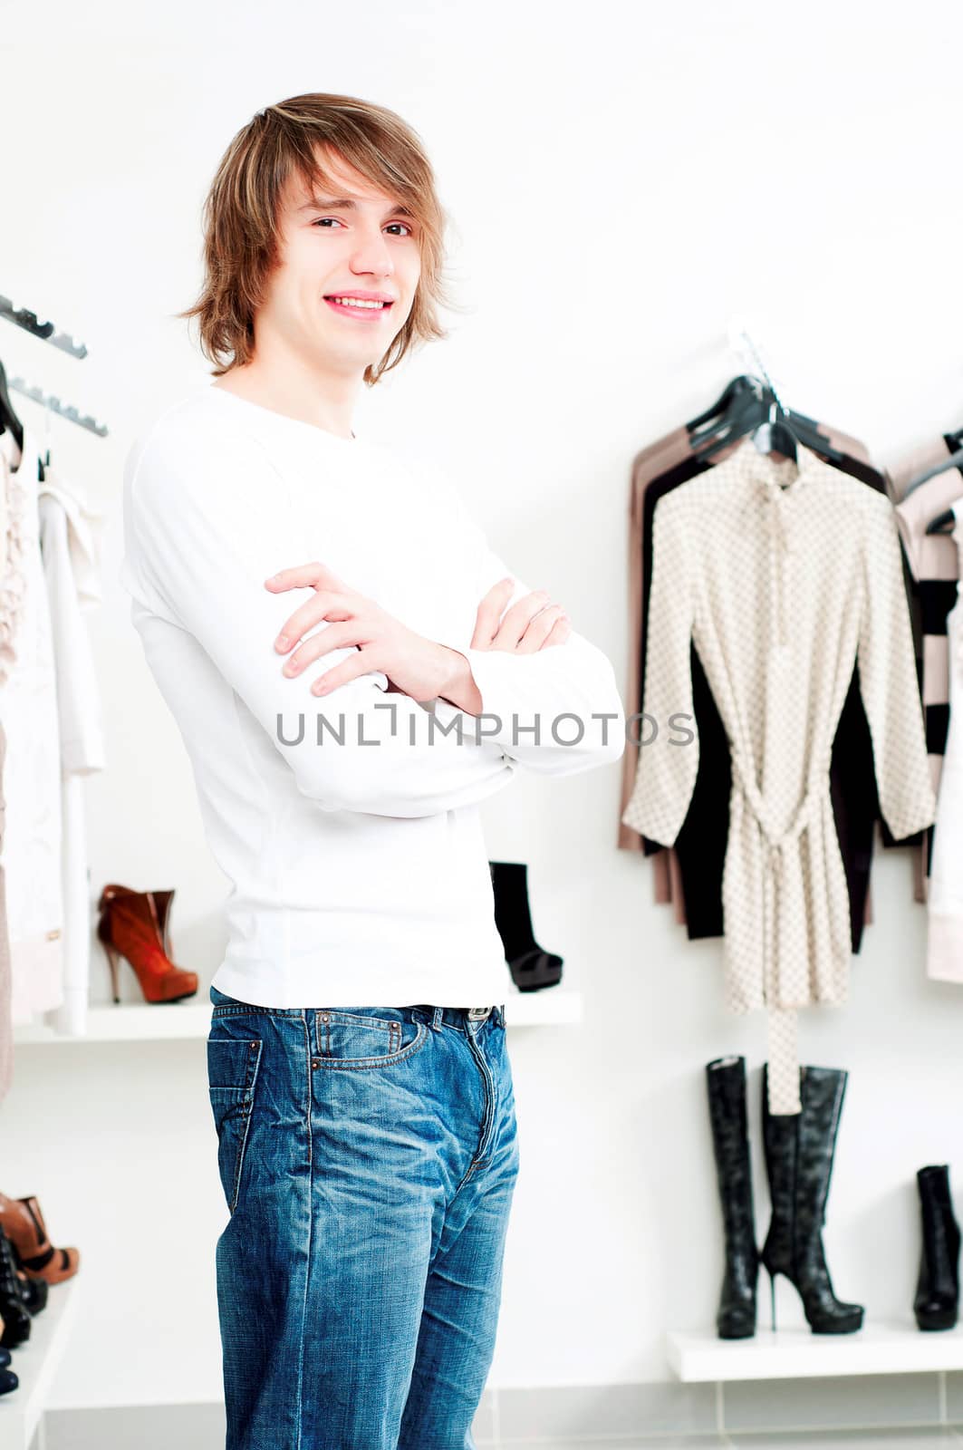
[[[799,447],[751,438],[656,508],[645,719],[622,822],[673,845],[699,764],[695,644],[732,755],[722,876],[727,1005],[769,1014],[769,1106],[799,1112],[796,1008],[846,1000],[851,937],[830,757],[859,664],[882,813],[931,825],[893,509]]]

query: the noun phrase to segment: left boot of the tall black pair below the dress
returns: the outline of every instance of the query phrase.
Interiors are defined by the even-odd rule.
[[[715,1324],[721,1340],[756,1334],[759,1250],[745,1112],[745,1058],[706,1063],[712,1148],[725,1231],[725,1275]]]

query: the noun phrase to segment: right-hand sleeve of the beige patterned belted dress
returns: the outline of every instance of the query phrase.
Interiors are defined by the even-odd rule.
[[[919,705],[899,534],[888,499],[870,509],[863,538],[860,693],[873,742],[879,805],[895,840],[933,825],[935,796]]]

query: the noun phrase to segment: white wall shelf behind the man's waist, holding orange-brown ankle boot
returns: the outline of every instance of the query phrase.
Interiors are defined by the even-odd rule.
[[[200,999],[200,1000],[199,1000]],[[557,1027],[582,1021],[582,992],[545,987],[542,992],[506,992],[505,1024],[515,1027]],[[207,1037],[210,1031],[207,987],[183,1002],[106,1002],[87,1009],[84,1037],[62,1037],[42,1022],[23,1022],[13,1028],[16,1045],[44,1043],[131,1043],[164,1038]]]

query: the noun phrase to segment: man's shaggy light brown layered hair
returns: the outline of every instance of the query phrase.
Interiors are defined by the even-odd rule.
[[[200,348],[213,376],[248,362],[254,315],[280,262],[278,212],[292,175],[331,191],[322,149],[338,152],[419,223],[421,277],[412,310],[384,357],[364,370],[374,386],[405,354],[445,338],[438,306],[452,306],[442,283],[445,212],[418,133],[393,110],[354,96],[293,96],[258,112],[225,151],[204,202],[204,280],[180,318],[197,318]]]

